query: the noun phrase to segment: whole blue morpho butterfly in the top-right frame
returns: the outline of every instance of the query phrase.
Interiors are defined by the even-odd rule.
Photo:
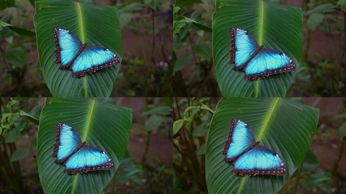
[[[294,62],[284,53],[265,49],[247,31],[231,28],[231,63],[233,69],[245,71],[245,79],[254,80],[272,74],[293,71]]]

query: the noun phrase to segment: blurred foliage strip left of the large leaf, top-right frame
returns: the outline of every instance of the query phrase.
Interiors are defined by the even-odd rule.
[[[177,0],[173,8],[174,94],[219,96],[212,72],[214,1]]]

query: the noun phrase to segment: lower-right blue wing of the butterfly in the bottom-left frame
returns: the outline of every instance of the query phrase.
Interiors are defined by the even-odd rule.
[[[94,170],[111,170],[113,161],[104,151],[83,146],[65,162],[65,173],[76,174]]]

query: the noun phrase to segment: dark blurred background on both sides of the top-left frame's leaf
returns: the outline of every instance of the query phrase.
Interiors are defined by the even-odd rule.
[[[123,59],[111,96],[169,96],[168,64],[172,53],[172,14],[168,0],[155,1],[153,11],[144,1],[95,1],[118,10],[141,3],[127,23],[120,17]],[[35,31],[35,9],[20,0],[17,7],[0,11],[0,21]],[[54,46],[54,45],[52,45]],[[154,48],[154,49],[153,49]],[[57,64],[59,65],[59,64]],[[39,67],[36,37],[0,27],[0,96],[51,96]]]

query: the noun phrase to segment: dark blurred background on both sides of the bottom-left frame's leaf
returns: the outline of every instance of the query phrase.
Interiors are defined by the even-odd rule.
[[[26,113],[39,118],[46,98],[36,99],[10,99],[0,98],[4,115],[4,105],[12,100],[17,105],[12,108],[13,112],[23,110]],[[168,98],[114,98],[117,105],[129,107],[133,112],[131,135],[129,137],[127,151],[120,167],[108,183],[104,193],[169,193],[172,187],[172,136],[170,113],[164,115],[164,120],[150,132],[145,129],[145,124],[151,115],[143,116],[142,113],[154,107],[171,107]],[[6,120],[2,122],[6,123]],[[33,124],[25,117],[15,121],[14,127],[24,127],[14,143],[6,143],[4,133],[0,133],[0,154],[12,157],[13,151],[27,147],[29,151],[20,156],[19,162],[10,162],[12,171],[10,180],[4,174],[0,174],[0,193],[16,193],[9,184],[14,182],[17,187],[23,187],[23,193],[43,193],[40,185],[36,166],[36,140],[38,125]],[[7,132],[9,136],[9,131]],[[147,151],[146,151],[147,150]],[[52,150],[53,153],[53,150]],[[52,156],[53,157],[53,156]],[[0,170],[5,168],[2,163],[5,157],[0,159]],[[19,170],[20,173],[16,173]],[[16,181],[21,179],[23,185]]]

